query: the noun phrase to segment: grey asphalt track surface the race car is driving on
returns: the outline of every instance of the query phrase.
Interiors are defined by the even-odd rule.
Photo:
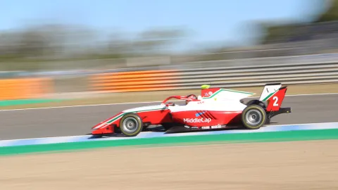
[[[338,122],[338,94],[286,96],[282,107],[292,113],[275,116],[271,125]],[[120,110],[158,103],[0,111],[0,140],[84,135],[96,123]]]

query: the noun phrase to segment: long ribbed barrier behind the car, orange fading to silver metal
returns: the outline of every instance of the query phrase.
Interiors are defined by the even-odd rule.
[[[319,84],[338,82],[337,63],[298,63],[180,70],[108,72],[90,78],[92,91],[130,92],[199,89],[201,84],[217,87],[258,87],[266,83]]]

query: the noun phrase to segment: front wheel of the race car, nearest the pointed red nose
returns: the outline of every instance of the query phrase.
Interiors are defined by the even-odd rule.
[[[127,137],[137,136],[143,129],[142,119],[135,113],[128,113],[120,120],[120,130]]]

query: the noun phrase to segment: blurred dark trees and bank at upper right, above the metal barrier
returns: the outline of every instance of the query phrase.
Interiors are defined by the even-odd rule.
[[[323,6],[323,0],[308,0],[306,10],[314,6]],[[211,61],[240,58],[263,58],[275,56],[298,56],[309,53],[338,52],[338,0],[329,1],[328,7],[320,13],[308,11],[310,22],[276,24],[272,22],[254,22],[261,32],[256,46],[244,49],[220,47],[209,49],[208,55],[201,55],[196,61]],[[322,40],[321,42],[316,41]],[[294,42],[294,43],[293,43]],[[336,43],[337,42],[337,43]]]

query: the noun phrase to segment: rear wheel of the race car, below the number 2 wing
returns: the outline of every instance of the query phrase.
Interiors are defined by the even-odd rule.
[[[242,123],[247,129],[259,129],[266,122],[265,110],[258,105],[247,106],[242,112]]]

